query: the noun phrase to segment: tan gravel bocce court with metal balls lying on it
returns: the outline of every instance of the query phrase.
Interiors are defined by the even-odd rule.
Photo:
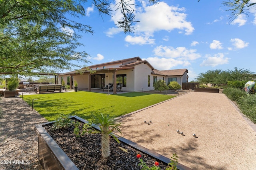
[[[121,122],[122,137],[192,169],[256,170],[256,132],[224,94],[186,93]]]

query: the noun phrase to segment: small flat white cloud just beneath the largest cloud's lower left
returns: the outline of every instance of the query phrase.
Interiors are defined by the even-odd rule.
[[[124,40],[132,45],[154,44],[155,39],[151,39],[150,37],[151,36],[149,35],[144,35],[144,36],[140,35],[140,36],[134,36],[134,37],[131,35],[127,35]]]

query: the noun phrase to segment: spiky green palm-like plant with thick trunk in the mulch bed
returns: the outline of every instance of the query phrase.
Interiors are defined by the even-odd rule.
[[[112,134],[112,132],[114,130],[117,130],[119,133],[121,133],[119,126],[122,123],[117,122],[118,119],[115,119],[115,117],[103,115],[102,113],[98,115],[93,115],[93,117],[94,121],[92,121],[92,123],[100,127],[100,131],[96,131],[96,133],[101,134],[102,156],[103,158],[107,158],[108,156],[110,156],[110,136],[112,136],[118,143],[120,143],[116,136]]]

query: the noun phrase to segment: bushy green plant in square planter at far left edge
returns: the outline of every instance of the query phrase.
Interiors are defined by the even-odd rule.
[[[18,86],[19,86],[18,78],[14,76],[9,78],[7,81],[6,90],[4,91],[4,98],[15,97],[18,91],[16,90],[16,88],[18,88]]]

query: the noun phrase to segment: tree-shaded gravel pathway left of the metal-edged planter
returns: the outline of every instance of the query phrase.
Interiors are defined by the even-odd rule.
[[[47,122],[22,98],[0,101],[0,170],[42,170],[34,125]]]

